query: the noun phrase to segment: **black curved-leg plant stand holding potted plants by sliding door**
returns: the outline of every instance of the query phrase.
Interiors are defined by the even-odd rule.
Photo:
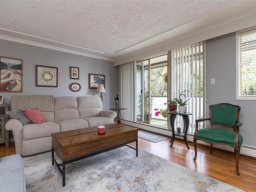
[[[183,137],[184,142],[186,143],[187,148],[189,149],[188,143],[187,143],[187,131],[188,131],[188,126],[189,126],[189,118],[188,115],[192,115],[191,113],[170,113],[168,112],[168,114],[170,114],[170,126],[172,127],[172,140],[170,140],[170,147],[173,146],[174,144],[174,139],[175,136],[179,136],[179,137]],[[182,116],[183,122],[184,122],[184,127],[183,127],[183,133],[178,134],[176,131],[174,131],[174,122],[176,119],[176,116],[180,115]]]

